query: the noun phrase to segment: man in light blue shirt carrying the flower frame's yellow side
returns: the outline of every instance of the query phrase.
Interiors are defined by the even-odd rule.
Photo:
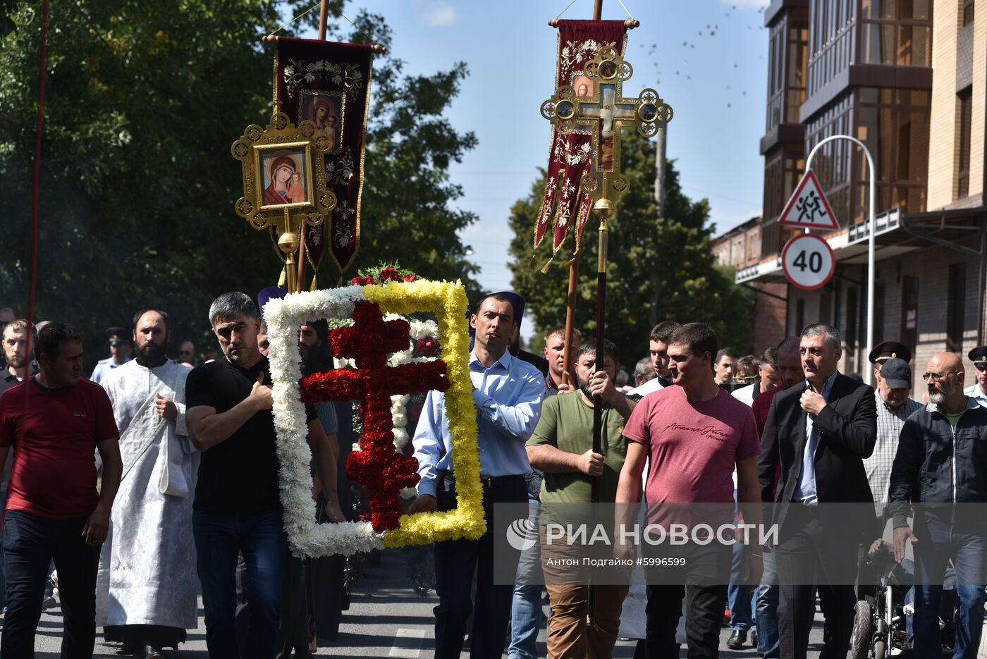
[[[470,633],[471,657],[499,657],[507,632],[513,586],[493,585],[493,504],[526,503],[524,475],[531,471],[524,443],[541,413],[545,380],[534,366],[507,351],[517,329],[514,307],[504,295],[481,300],[470,318],[476,343],[470,354],[473,401],[477,405],[480,475],[488,532],[480,540],[435,544],[435,657],[458,657],[473,611],[470,597],[477,574],[477,605]],[[429,392],[413,439],[418,460],[418,498],[409,514],[456,506],[452,440],[445,397]],[[514,556],[514,560],[517,556]]]

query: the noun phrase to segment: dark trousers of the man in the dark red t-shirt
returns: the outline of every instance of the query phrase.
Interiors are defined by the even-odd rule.
[[[8,510],[3,528],[7,615],[0,638],[0,659],[35,656],[35,631],[48,563],[58,570],[58,594],[64,616],[62,659],[90,659],[96,644],[96,572],[100,548],[82,537],[85,517],[52,520]]]

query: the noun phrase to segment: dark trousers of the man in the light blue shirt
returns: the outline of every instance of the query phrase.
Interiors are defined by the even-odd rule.
[[[466,621],[473,616],[470,633],[470,657],[496,659],[503,653],[503,641],[510,621],[510,603],[514,586],[493,585],[493,504],[526,503],[528,489],[523,476],[505,479],[484,488],[484,514],[487,533],[480,540],[451,540],[435,543],[435,659],[455,659],[463,649]],[[440,510],[456,505],[454,491],[438,492]],[[517,564],[520,552],[512,551]],[[498,560],[503,560],[499,556]],[[474,611],[470,591],[477,579],[477,603]]]

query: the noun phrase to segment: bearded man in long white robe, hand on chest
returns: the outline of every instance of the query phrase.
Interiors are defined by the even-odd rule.
[[[123,477],[100,558],[97,618],[108,641],[147,659],[197,626],[191,492],[199,453],[186,429],[188,367],[168,359],[168,314],[133,317],[136,359],[103,388],[120,429]]]

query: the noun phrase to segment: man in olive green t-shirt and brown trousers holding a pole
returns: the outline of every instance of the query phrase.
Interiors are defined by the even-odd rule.
[[[617,346],[604,341],[603,355],[602,369],[597,370],[595,341],[579,346],[575,357],[578,390],[547,398],[538,426],[528,439],[528,460],[545,473],[541,500],[543,511],[550,515],[554,505],[558,511],[567,507],[558,504],[589,503],[593,477],[600,478],[600,502],[612,503],[616,498],[617,481],[627,455],[621,432],[636,403],[614,388],[620,369]],[[592,450],[593,397],[597,395],[604,404],[600,453]],[[545,534],[542,536],[544,543]],[[564,583],[572,580],[565,574],[554,580],[554,570],[547,562],[544,567],[552,601],[549,657],[611,656],[627,586],[596,586],[595,623],[589,625],[588,586]]]

